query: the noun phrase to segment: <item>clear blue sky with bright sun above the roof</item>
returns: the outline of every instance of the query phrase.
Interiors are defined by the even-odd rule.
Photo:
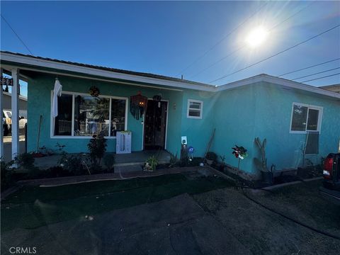
[[[318,79],[340,73],[340,1],[1,1],[1,16],[40,57],[217,86],[334,60],[282,77],[340,83],[340,75]],[[4,18],[1,50],[30,54]],[[259,26],[267,37],[250,47]]]

